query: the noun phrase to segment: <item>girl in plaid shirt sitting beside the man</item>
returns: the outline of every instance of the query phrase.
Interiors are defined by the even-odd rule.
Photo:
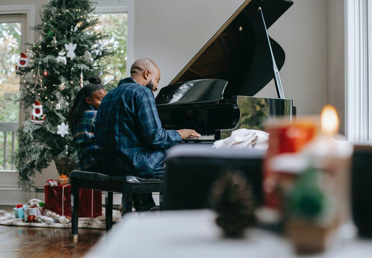
[[[101,80],[92,76],[89,84],[76,94],[74,104],[67,116],[79,158],[79,169],[90,172],[103,172],[99,159],[99,144],[94,137],[94,122],[103,97],[106,95]]]

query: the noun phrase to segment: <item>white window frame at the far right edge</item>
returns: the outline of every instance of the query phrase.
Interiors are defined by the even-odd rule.
[[[345,134],[372,140],[372,3],[345,0]]]

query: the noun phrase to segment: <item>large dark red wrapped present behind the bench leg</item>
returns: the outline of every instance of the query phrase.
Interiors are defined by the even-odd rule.
[[[44,186],[45,209],[60,215],[71,216],[71,185]],[[93,192],[92,192],[93,191]],[[93,201],[92,201],[93,200]],[[79,217],[102,215],[102,193],[97,190],[80,188]]]

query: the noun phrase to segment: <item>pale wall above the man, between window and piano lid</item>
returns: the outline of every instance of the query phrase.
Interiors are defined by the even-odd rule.
[[[244,0],[135,0],[134,60],[150,58],[167,86]],[[157,93],[155,93],[157,94]]]

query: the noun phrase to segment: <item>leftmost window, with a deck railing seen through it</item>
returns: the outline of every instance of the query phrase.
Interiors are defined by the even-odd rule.
[[[20,75],[15,65],[24,51],[26,14],[0,15],[0,169],[14,170],[10,157],[17,148]]]

